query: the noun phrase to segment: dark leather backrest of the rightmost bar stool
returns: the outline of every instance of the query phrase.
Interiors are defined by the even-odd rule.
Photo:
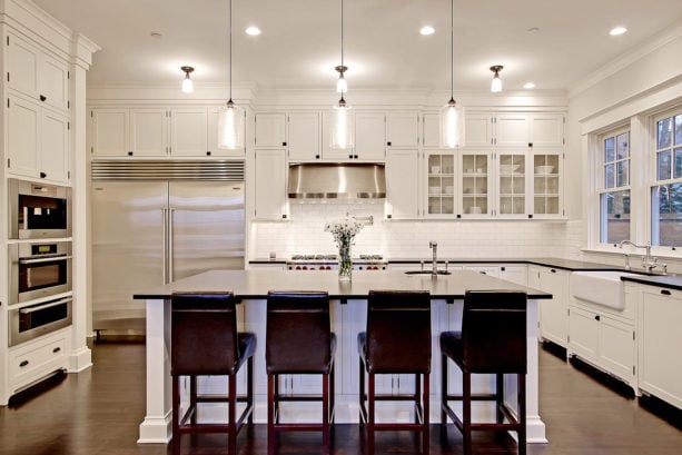
[[[525,293],[468,290],[464,296],[462,342],[471,373],[526,373]]]

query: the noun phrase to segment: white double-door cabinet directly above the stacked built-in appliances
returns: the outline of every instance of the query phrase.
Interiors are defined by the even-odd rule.
[[[6,109],[8,171],[68,182],[68,118],[36,101],[12,95],[8,97]]]

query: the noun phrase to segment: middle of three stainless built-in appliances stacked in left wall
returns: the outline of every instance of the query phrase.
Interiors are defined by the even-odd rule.
[[[10,303],[20,304],[71,290],[71,243],[8,245]]]

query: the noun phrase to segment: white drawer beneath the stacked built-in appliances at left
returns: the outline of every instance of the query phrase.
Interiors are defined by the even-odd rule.
[[[66,366],[67,338],[29,342],[10,354],[10,384],[20,386]]]

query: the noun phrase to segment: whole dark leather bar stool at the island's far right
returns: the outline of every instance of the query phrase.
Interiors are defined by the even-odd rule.
[[[464,454],[472,453],[472,432],[508,432],[518,435],[518,454],[526,453],[526,294],[471,290],[464,297],[462,332],[441,334],[442,404],[441,421],[452,418],[464,437]],[[462,395],[447,392],[447,359],[463,374]],[[494,374],[494,394],[472,395],[472,374]],[[504,403],[504,375],[515,374],[518,384],[516,416]],[[462,400],[463,418],[448,400]],[[495,423],[472,423],[472,400],[496,402]],[[505,423],[504,419],[507,419]]]

